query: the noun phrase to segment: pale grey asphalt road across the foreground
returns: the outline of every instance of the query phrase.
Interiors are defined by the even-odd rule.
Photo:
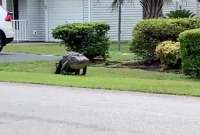
[[[0,135],[200,135],[200,98],[0,83]]]

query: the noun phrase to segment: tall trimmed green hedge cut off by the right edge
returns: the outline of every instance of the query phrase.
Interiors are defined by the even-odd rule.
[[[179,41],[183,72],[192,77],[200,77],[200,29],[181,33]]]

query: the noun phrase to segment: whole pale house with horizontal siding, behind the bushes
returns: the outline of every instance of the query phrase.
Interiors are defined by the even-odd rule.
[[[112,10],[112,0],[0,0],[0,4],[14,12],[17,40],[54,41],[52,29],[72,22],[105,22],[111,26],[109,35],[117,39],[118,13]],[[173,2],[165,5],[163,12],[177,8]],[[198,14],[199,2],[182,3],[186,9]],[[134,25],[142,19],[139,1],[125,3],[122,8],[122,40],[130,40]]]

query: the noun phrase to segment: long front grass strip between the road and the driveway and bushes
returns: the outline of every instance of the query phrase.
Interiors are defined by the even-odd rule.
[[[55,75],[55,62],[0,64],[0,81],[200,96],[200,80],[181,74],[89,67],[86,76]]]

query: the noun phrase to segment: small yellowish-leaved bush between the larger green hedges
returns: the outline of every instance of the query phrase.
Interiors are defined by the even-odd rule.
[[[156,47],[155,53],[161,62],[161,69],[180,68],[180,44],[178,42],[161,42]]]

